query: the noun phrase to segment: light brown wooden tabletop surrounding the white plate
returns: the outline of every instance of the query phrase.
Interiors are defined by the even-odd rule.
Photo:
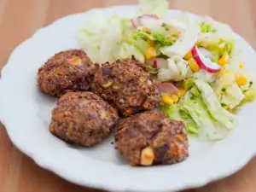
[[[10,53],[18,44],[29,38],[38,28],[49,25],[62,16],[96,7],[134,3],[137,3],[137,0],[0,0],[0,67],[5,65]],[[170,6],[171,9],[211,15],[216,20],[224,21],[246,38],[254,49],[256,48],[255,0],[171,0]],[[26,63],[20,63],[20,65],[26,65]],[[256,148],[256,146],[248,147]],[[68,183],[38,167],[15,148],[3,125],[0,125],[0,191],[92,192],[100,190],[85,189]],[[201,189],[189,189],[186,192],[192,191],[255,192],[256,159],[251,160],[233,176],[210,183]]]

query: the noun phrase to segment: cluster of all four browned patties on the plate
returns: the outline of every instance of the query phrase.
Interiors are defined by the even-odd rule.
[[[61,51],[38,69],[38,86],[58,97],[49,131],[67,143],[90,147],[116,127],[116,148],[131,166],[189,156],[183,122],[153,110],[161,103],[160,90],[134,56],[100,66],[84,50]]]

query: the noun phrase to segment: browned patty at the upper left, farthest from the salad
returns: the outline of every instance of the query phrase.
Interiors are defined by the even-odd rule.
[[[96,71],[84,50],[61,51],[38,70],[39,88],[51,96],[61,96],[68,91],[89,90]]]

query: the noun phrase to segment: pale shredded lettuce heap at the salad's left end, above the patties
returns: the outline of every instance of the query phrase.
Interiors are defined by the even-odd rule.
[[[131,20],[118,15],[106,19],[99,14],[88,18],[85,23],[79,31],[79,43],[92,61],[111,62],[131,55],[144,61],[143,53],[148,44],[143,39],[135,41],[132,38],[134,28]]]

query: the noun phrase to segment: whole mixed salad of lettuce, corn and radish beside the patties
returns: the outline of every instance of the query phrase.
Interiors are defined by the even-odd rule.
[[[208,17],[168,15],[166,0],[142,0],[131,18],[93,15],[78,39],[91,60],[135,55],[159,85],[161,110],[189,135],[220,140],[236,127],[236,110],[256,96],[230,26]],[[95,25],[97,24],[97,25]]]

